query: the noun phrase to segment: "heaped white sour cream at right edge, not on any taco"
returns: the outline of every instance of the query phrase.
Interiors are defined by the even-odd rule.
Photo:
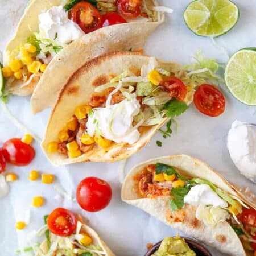
[[[241,174],[256,182],[256,126],[234,121],[228,133],[227,146]]]

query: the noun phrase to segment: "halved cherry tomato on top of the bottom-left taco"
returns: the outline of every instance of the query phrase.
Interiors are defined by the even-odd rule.
[[[57,236],[67,237],[76,230],[75,214],[64,208],[56,208],[47,218],[49,230]]]

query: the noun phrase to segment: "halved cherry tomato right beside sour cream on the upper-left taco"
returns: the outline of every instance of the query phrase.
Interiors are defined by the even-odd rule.
[[[85,32],[89,33],[102,27],[100,12],[90,3],[82,1],[71,10],[71,18]]]

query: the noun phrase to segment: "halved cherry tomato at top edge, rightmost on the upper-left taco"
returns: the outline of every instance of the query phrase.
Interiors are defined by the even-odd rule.
[[[118,11],[127,18],[136,18],[141,14],[141,0],[117,0]]]

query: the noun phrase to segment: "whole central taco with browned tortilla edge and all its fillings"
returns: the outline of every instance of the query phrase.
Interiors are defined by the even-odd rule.
[[[188,78],[179,64],[137,52],[87,61],[61,90],[43,151],[55,165],[128,158],[188,108],[197,85]]]

